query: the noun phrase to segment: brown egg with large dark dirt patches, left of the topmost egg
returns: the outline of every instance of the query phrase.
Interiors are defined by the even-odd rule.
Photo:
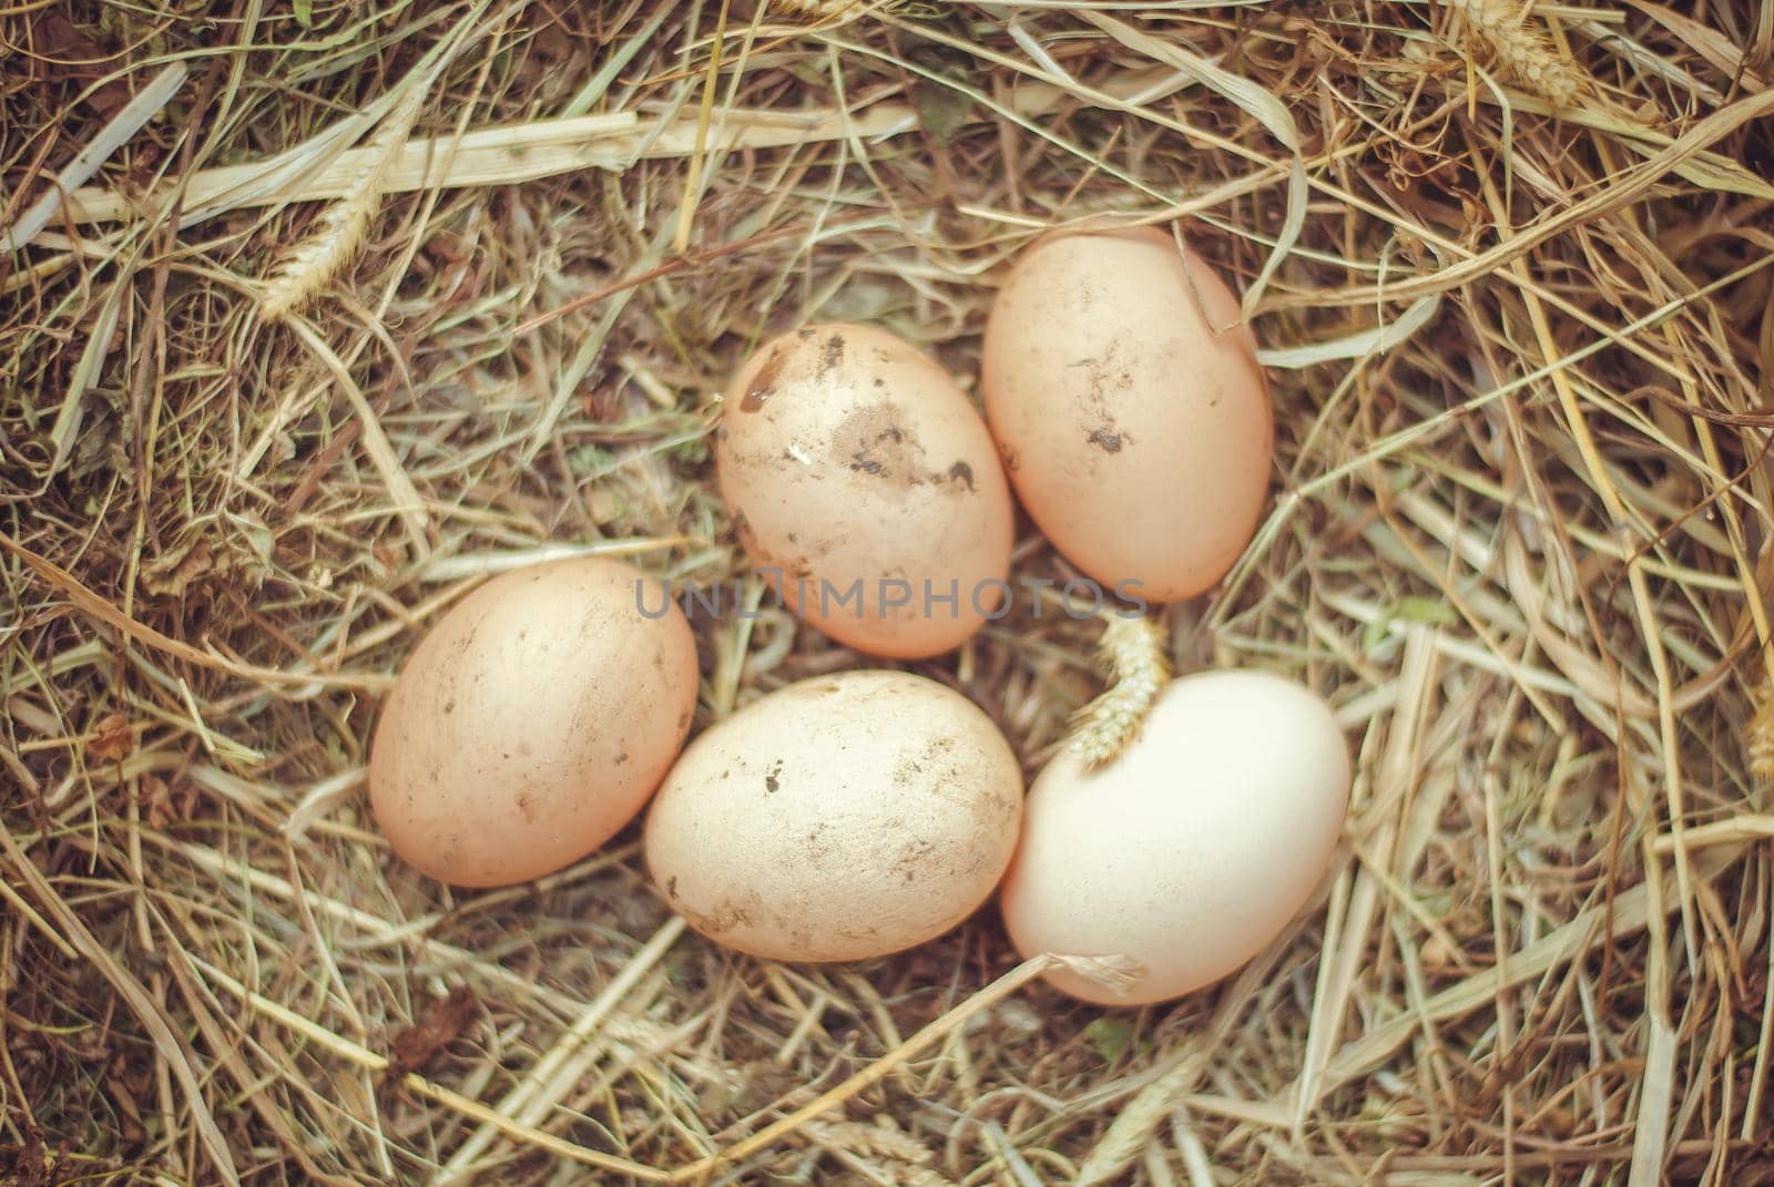
[[[761,346],[726,392],[715,463],[752,564],[837,642],[930,656],[1008,609],[1011,499],[992,435],[885,330],[811,325]]]

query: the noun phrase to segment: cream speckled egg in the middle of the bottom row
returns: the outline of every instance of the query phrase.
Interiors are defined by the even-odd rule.
[[[653,800],[646,861],[683,919],[770,960],[883,956],[962,923],[1017,846],[1022,770],[933,680],[852,671],[704,731]]]

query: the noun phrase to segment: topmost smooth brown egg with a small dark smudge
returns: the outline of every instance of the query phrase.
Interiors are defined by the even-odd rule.
[[[1251,541],[1268,387],[1238,298],[1171,236],[1038,240],[992,305],[981,389],[1018,500],[1100,587],[1189,598]]]

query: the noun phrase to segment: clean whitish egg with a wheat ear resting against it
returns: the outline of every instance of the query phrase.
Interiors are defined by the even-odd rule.
[[[1107,1006],[1189,994],[1235,972],[1311,900],[1348,807],[1329,706],[1283,676],[1197,672],[1158,694],[1118,759],[1064,751],[1029,788],[1001,908],[1024,956],[1132,956],[1126,995],[1057,969]]]

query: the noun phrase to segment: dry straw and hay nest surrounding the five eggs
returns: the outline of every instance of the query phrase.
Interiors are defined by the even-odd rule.
[[[1770,12],[0,9],[0,227],[119,142],[0,261],[0,1169],[1769,1182]],[[852,318],[970,376],[1006,261],[1093,218],[1174,224],[1272,367],[1272,513],[1167,625],[1350,731],[1281,942],[1102,1011],[990,912],[734,958],[633,834],[498,892],[390,859],[365,740],[440,610],[562,552],[743,577],[736,360]],[[703,722],[862,662],[699,635]],[[1032,766],[1095,635],[1020,607],[917,671]]]

